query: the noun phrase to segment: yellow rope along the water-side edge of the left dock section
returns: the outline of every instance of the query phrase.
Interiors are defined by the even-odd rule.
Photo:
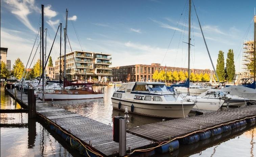
[[[60,129],[60,130],[63,131],[64,133],[68,134],[68,135],[70,136],[70,145],[71,145],[71,146],[72,146],[71,138],[73,138],[73,139],[76,140],[78,143],[80,143],[80,146],[82,145],[82,146],[85,148],[86,153],[87,153],[87,155],[88,155],[89,157],[91,157],[91,156],[88,154],[87,150],[90,151],[91,153],[97,155],[97,156],[103,157],[101,154],[99,154],[99,153],[93,151],[89,146],[85,146],[79,139],[77,139],[77,138],[74,137],[72,134],[70,134],[70,133],[66,132],[65,130],[63,130],[60,126],[56,125],[55,123],[53,123],[52,121],[50,121],[48,118],[46,118],[46,117],[44,117],[44,116],[42,116],[42,115],[39,115],[39,116],[41,116],[41,117],[43,117],[44,119],[46,119],[47,122],[53,124],[55,127],[57,127],[58,129]],[[68,139],[68,137],[67,137],[67,139]],[[66,139],[66,140],[67,140],[67,139]],[[80,147],[80,146],[79,146],[79,147]],[[77,148],[79,148],[79,147],[77,147]]]

